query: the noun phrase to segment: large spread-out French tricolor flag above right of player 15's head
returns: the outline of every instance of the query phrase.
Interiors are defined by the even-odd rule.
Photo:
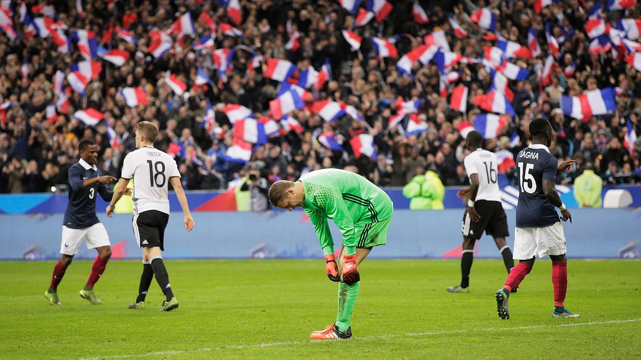
[[[612,88],[603,88],[584,92],[578,96],[561,97],[561,108],[565,115],[588,122],[592,115],[603,115],[616,111],[617,104]]]

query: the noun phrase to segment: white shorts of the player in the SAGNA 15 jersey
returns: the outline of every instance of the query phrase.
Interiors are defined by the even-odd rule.
[[[514,259],[531,259],[536,254],[539,258],[563,255],[566,251],[561,222],[546,227],[517,227],[514,232]]]

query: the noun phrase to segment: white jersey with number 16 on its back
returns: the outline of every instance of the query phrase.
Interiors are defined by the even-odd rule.
[[[463,160],[467,176],[479,176],[479,190],[474,200],[501,201],[499,191],[499,164],[494,152],[481,148],[470,152]],[[470,183],[472,179],[470,178]]]

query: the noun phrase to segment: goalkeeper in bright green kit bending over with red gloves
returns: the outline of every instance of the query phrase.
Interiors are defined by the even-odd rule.
[[[372,247],[385,245],[394,211],[392,200],[365,177],[333,168],[309,172],[296,182],[276,181],[269,188],[269,200],[274,206],[289,211],[299,206],[304,209],[325,253],[329,280],[340,282],[336,322],[312,332],[310,338],[351,338],[349,322],[358,297],[358,265]],[[343,236],[338,264],[328,218],[338,225]]]

